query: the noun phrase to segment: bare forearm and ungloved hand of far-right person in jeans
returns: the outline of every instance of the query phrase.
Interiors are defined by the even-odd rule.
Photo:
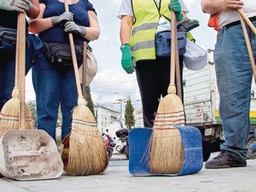
[[[204,13],[216,14],[220,11],[235,11],[242,8],[243,2],[240,0],[202,0],[201,6]]]

